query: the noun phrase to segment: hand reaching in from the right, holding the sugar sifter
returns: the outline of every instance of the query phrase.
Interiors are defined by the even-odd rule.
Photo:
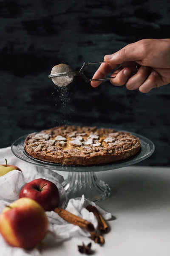
[[[140,40],[112,55],[105,55],[104,60],[106,63],[100,65],[93,79],[105,78],[122,63],[122,67],[111,75],[116,75],[110,79],[113,85],[125,84],[128,90],[139,88],[142,93],[148,93],[155,87],[170,83],[170,39]],[[138,71],[136,64],[142,66]],[[91,86],[97,87],[101,83],[91,81]]]

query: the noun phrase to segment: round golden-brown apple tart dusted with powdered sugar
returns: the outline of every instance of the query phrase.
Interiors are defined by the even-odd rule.
[[[26,137],[24,148],[34,158],[66,165],[96,165],[132,157],[139,138],[113,129],[63,125]]]

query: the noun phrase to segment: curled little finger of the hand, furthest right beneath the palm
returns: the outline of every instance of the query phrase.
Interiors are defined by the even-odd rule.
[[[156,71],[153,71],[152,73],[150,73],[147,80],[144,81],[144,83],[139,87],[139,91],[141,93],[148,93],[153,88],[158,87],[156,84],[157,78],[158,78],[158,73]]]

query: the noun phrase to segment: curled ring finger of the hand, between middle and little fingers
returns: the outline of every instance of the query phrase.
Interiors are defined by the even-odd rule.
[[[136,90],[139,88],[147,79],[148,71],[148,67],[140,67],[138,72],[127,81],[126,88],[128,90]]]

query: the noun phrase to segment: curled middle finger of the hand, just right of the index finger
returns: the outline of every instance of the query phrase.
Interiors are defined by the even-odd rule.
[[[122,86],[129,79],[131,71],[130,71],[129,68],[124,68],[121,71],[120,70],[116,70],[111,76],[115,76],[116,73],[117,73],[116,77],[113,78],[113,79],[110,79],[110,81],[115,86]]]

